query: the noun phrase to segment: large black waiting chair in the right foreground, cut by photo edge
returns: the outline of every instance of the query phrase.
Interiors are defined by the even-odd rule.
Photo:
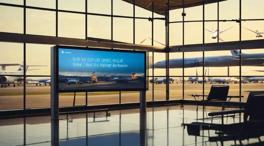
[[[241,140],[249,138],[259,138],[264,135],[264,91],[252,91],[248,95],[244,109],[229,110],[222,112],[211,112],[209,116],[221,116],[222,124],[193,122],[191,124],[183,124],[187,126],[189,135],[200,136],[200,130],[215,130],[219,131],[216,134],[219,136],[210,137],[209,142],[229,140]],[[224,124],[224,115],[244,113],[242,123]],[[249,116],[249,119],[248,119]],[[226,136],[222,136],[226,135]],[[259,138],[260,141],[260,138]],[[242,145],[242,144],[241,144]]]

